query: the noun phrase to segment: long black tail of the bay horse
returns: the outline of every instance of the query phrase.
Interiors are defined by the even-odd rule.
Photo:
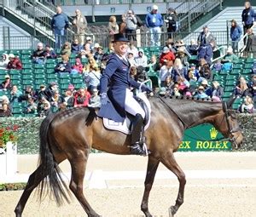
[[[61,168],[55,163],[54,156],[50,151],[49,145],[54,143],[55,140],[49,135],[49,126],[55,117],[56,113],[49,114],[44,118],[43,123],[40,126],[40,159],[39,165],[42,165],[42,170],[46,171],[48,176],[41,182],[39,197],[42,199],[43,195],[51,194],[55,197],[55,201],[58,205],[61,205],[64,199],[69,203],[69,199],[65,190],[68,191],[68,187],[61,178]],[[48,190],[44,192],[44,187],[48,186]],[[68,191],[69,192],[69,191]]]

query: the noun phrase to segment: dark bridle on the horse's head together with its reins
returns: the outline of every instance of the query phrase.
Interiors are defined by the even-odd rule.
[[[184,128],[189,128],[189,125],[183,121],[182,117],[180,117],[177,114],[177,112],[172,109],[171,106],[167,105],[165,100],[163,100],[162,97],[160,97],[159,94],[155,94],[155,95],[169,108],[169,110],[171,110],[177,116],[177,118],[181,121],[181,123],[183,123]],[[205,140],[204,138],[201,137],[200,134],[197,134],[195,132],[195,130],[193,130],[193,129],[190,129],[190,130],[198,138],[200,138],[202,141],[227,141],[227,140],[229,140],[231,143],[233,143],[236,146],[236,148],[238,148],[238,144],[236,142],[236,139],[238,138],[238,136],[235,137],[233,133],[241,131],[241,128],[239,126],[236,126],[236,128],[232,128],[231,124],[230,124],[230,120],[229,120],[229,117],[232,117],[232,113],[235,112],[235,111],[228,109],[227,103],[225,101],[222,102],[222,106],[223,106],[223,111],[224,111],[224,117],[222,118],[220,124],[222,124],[224,122],[224,119],[225,119],[225,121],[227,123],[227,126],[228,126],[228,134],[229,134],[228,138],[224,138],[224,136],[223,136],[222,138],[219,138],[219,139],[216,139],[216,140]],[[197,140],[197,138],[193,138],[191,136],[188,136],[188,137],[190,137],[191,139]]]

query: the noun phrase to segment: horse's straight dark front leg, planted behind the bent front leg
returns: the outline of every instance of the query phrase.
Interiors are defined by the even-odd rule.
[[[146,217],[152,216],[152,214],[150,214],[148,211],[148,197],[149,197],[149,192],[151,191],[151,188],[153,186],[154,176],[159,163],[160,161],[155,159],[154,157],[152,156],[148,157],[148,168],[147,168],[146,180],[144,182],[145,189],[143,194],[143,201],[141,204],[141,210],[143,211]]]

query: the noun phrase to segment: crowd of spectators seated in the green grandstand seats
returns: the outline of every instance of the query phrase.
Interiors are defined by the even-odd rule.
[[[201,41],[200,41],[201,39]],[[233,54],[232,48],[227,49],[217,63],[212,64],[212,56],[216,43],[214,37],[206,41],[199,37],[198,43],[191,41],[186,46],[183,41],[166,41],[159,55],[145,54],[145,49],[137,49],[134,43],[130,43],[127,50],[127,60],[131,64],[131,77],[143,82],[154,72],[159,78],[159,86],[153,87],[154,91],[163,96],[186,96],[198,99],[211,99],[221,101],[224,87],[214,80],[214,71],[230,70],[239,58]],[[102,71],[107,64],[108,57],[113,49],[104,49],[98,43],[92,43],[90,37],[86,37],[84,45],[79,44],[78,39],[73,43],[64,43],[60,54],[56,54],[49,45],[38,43],[38,48],[31,56],[32,63],[44,65],[48,59],[57,59],[53,73],[59,78],[65,75],[80,74],[84,85],[75,89],[70,83],[65,91],[58,88],[58,83],[42,83],[40,89],[34,89],[27,85],[26,89],[20,89],[12,85],[9,74],[0,85],[0,91],[9,91],[9,97],[0,97],[0,117],[12,116],[12,108],[15,102],[23,105],[24,114],[37,114],[45,117],[49,111],[62,111],[77,106],[100,106],[99,84]],[[196,60],[190,61],[191,56],[196,55]],[[71,56],[73,62],[71,62]],[[255,64],[256,65],[256,64]],[[2,69],[22,70],[22,63],[14,54],[3,54],[0,61]],[[241,112],[254,112],[256,101],[256,75],[252,72],[250,81],[245,77],[239,77],[234,88],[234,94],[244,97],[240,106]]]

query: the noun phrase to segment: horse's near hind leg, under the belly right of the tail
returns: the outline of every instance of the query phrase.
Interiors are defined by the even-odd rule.
[[[88,155],[89,150],[86,151],[86,154],[75,157],[73,156],[73,158],[70,160],[72,174],[69,188],[79,200],[79,203],[84,208],[86,214],[88,214],[89,217],[97,217],[100,215],[96,214],[96,212],[90,207],[90,204],[85,199],[83,192],[84,174]]]

